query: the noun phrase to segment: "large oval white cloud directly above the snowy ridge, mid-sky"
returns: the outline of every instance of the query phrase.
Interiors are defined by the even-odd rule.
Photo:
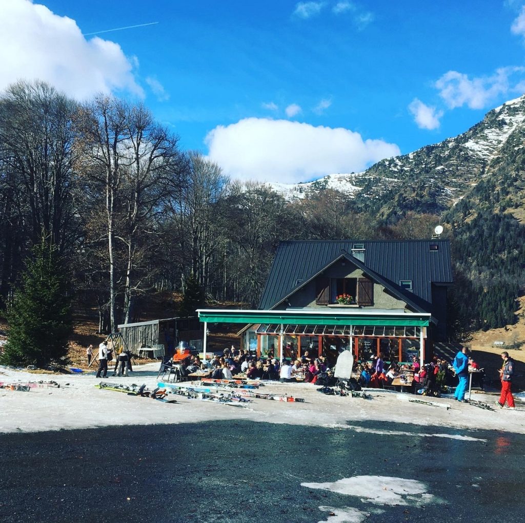
[[[348,129],[288,120],[246,118],[206,136],[208,156],[243,180],[297,183],[330,173],[359,172],[400,154],[395,144],[363,140]]]

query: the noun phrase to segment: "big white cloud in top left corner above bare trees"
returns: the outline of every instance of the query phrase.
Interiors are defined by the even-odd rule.
[[[0,1],[0,63],[0,90],[40,79],[77,99],[115,90],[144,95],[133,75],[136,61],[118,44],[86,39],[75,20],[29,0]]]

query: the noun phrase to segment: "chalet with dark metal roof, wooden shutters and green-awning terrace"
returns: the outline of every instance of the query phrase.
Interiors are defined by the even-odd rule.
[[[334,360],[423,361],[447,339],[448,240],[285,241],[259,309],[198,311],[201,322],[248,323],[243,348],[258,356],[308,350]],[[205,328],[206,331],[206,328]]]

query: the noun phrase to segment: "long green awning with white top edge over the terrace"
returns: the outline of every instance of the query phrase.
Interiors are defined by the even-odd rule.
[[[363,313],[317,311],[242,311],[201,309],[199,321],[207,323],[286,323],[295,325],[391,325],[428,327],[427,313]]]

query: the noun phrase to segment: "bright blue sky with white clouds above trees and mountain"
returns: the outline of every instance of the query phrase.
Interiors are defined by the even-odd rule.
[[[143,101],[232,177],[306,181],[523,94],[524,3],[0,0],[0,89],[39,77]]]

